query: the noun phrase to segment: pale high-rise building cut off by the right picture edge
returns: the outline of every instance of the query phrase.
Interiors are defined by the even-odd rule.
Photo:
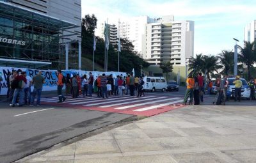
[[[254,42],[256,40],[256,20],[244,27],[244,41]]]

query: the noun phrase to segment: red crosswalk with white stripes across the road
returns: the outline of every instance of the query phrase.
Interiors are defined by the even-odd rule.
[[[108,111],[125,114],[141,114],[151,116],[173,109],[173,104],[182,102],[182,98],[164,95],[148,95],[146,97],[132,97],[124,95],[122,97],[111,96],[109,98],[93,97],[66,97],[65,102],[57,104],[58,97],[42,98],[44,104],[60,105],[63,107],[73,107],[90,109],[95,111]],[[182,106],[182,105],[180,105]],[[159,109],[161,107],[161,109]],[[163,109],[162,109],[163,108]],[[177,108],[177,107],[175,107]],[[150,114],[149,114],[150,113]]]

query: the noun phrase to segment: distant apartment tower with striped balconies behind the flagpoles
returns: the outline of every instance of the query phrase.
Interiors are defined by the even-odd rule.
[[[109,25],[109,42],[112,45],[116,45],[118,43],[118,29],[115,24],[108,24]],[[97,29],[95,29],[95,36],[99,36],[100,38],[104,38],[104,29],[105,23],[97,24]]]

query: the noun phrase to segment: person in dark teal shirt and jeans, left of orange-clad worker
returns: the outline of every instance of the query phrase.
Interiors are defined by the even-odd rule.
[[[33,89],[32,97],[30,100],[30,105],[34,105],[36,95],[37,95],[36,105],[40,105],[43,84],[45,83],[45,79],[42,76],[41,71],[33,77],[31,83],[34,85],[34,89]]]

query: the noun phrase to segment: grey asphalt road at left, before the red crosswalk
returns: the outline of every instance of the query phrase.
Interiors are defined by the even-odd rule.
[[[67,107],[0,103],[0,162],[13,162],[72,137],[131,117]]]

